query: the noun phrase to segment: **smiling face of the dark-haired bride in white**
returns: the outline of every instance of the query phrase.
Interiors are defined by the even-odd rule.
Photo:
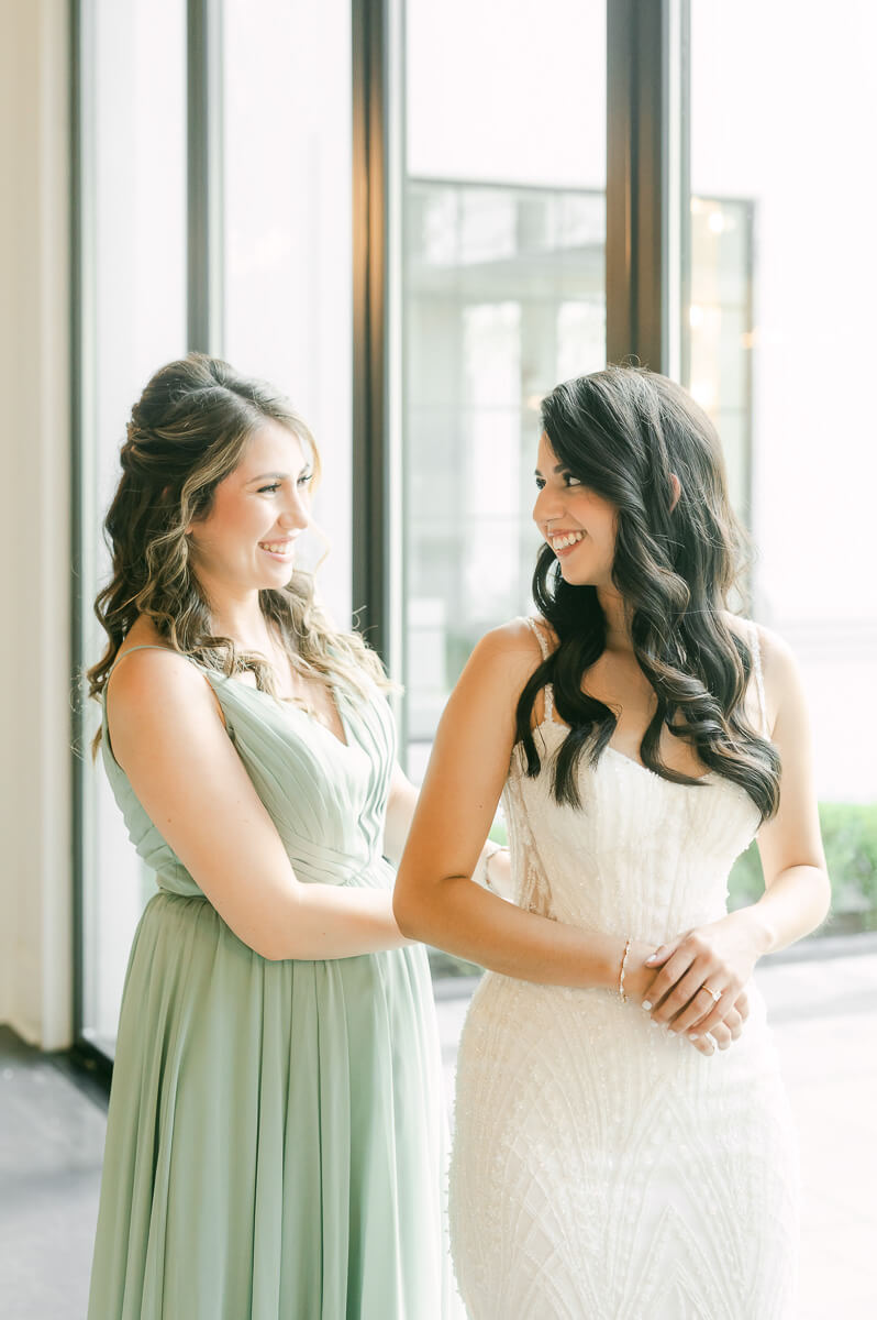
[[[558,461],[545,432],[535,467],[533,521],[571,586],[612,586],[617,510]]]

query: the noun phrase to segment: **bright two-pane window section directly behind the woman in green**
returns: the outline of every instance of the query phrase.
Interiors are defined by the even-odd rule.
[[[311,426],[324,466],[315,515],[331,548],[319,581],[347,622],[348,0],[317,9],[286,0],[82,0],[78,15],[80,665],[106,644],[91,602],[107,579],[100,524],[131,405],[157,367],[189,348],[272,380]],[[208,88],[206,103],[193,96],[194,83]],[[193,150],[193,141],[202,145]],[[193,234],[195,214],[210,215],[204,232]],[[193,308],[208,305],[202,319],[214,329],[199,330]],[[309,533],[303,557],[315,564],[326,548],[326,537]],[[76,1031],[111,1055],[131,940],[154,878],[128,842],[100,762],[88,756],[98,718],[83,704]]]

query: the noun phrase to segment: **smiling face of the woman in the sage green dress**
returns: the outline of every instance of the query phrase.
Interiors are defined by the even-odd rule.
[[[295,539],[310,523],[313,473],[294,432],[276,421],[253,432],[237,467],[218,484],[210,512],[189,531],[204,586],[236,595],[286,586]]]

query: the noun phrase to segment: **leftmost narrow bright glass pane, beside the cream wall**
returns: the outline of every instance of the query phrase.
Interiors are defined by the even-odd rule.
[[[125,421],[152,372],[186,351],[186,5],[92,0],[83,5],[83,38],[80,589],[82,653],[92,664],[106,645],[91,612],[109,568],[100,523]],[[88,708],[80,1028],[111,1053],[131,939],[153,879],[87,754],[99,718]]]

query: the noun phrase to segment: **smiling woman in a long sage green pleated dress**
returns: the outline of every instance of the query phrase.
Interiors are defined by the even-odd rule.
[[[88,677],[158,894],[121,1005],[90,1320],[450,1316],[431,986],[385,861],[415,795],[377,657],[295,569],[314,441],[193,354],[146,385],[121,469]]]

